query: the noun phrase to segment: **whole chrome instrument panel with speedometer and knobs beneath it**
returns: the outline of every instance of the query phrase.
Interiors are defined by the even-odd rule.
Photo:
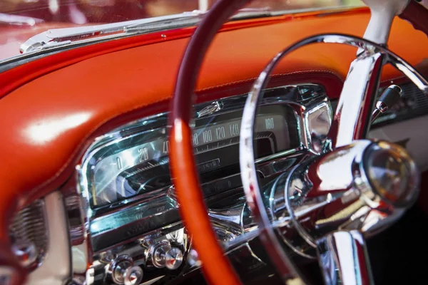
[[[245,209],[239,167],[239,139],[247,95],[195,105],[192,142],[208,215],[218,239],[227,244],[253,228]],[[265,89],[255,122],[255,163],[260,185],[268,185],[330,143],[332,108],[324,88],[305,83]],[[73,264],[91,271],[93,282],[114,281],[115,266],[133,264],[142,281],[173,279],[197,269],[186,260],[191,251],[170,178],[168,114],[123,125],[96,140],[78,165],[78,207],[85,234],[71,239]],[[69,215],[76,212],[71,211]],[[246,213],[246,214],[245,214]],[[73,227],[73,228],[74,228]],[[76,230],[76,232],[78,232]],[[157,253],[182,254],[178,268],[158,262]],[[248,244],[230,253],[255,257]],[[126,258],[125,258],[126,257]],[[233,253],[231,255],[233,257]],[[76,260],[74,260],[76,259]],[[81,262],[86,260],[85,262]],[[263,266],[260,259],[253,260]],[[254,267],[251,261],[248,266]],[[121,266],[119,266],[121,267]],[[80,267],[79,267],[80,268]],[[245,271],[247,271],[245,269]],[[98,282],[98,283],[97,283]]]

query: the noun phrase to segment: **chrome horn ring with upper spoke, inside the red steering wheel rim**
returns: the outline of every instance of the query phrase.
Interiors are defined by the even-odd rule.
[[[386,63],[390,63],[399,71],[402,71],[402,73],[404,73],[404,75],[407,76],[424,93],[427,94],[428,92],[428,82],[414,68],[412,68],[409,63],[404,61],[402,58],[399,58],[399,56],[395,55],[387,48],[384,48],[383,46],[379,46],[376,43],[372,43],[363,38],[355,36],[347,36],[341,34],[322,34],[317,36],[311,36],[281,51],[277,54],[277,56],[275,56],[275,58],[272,59],[272,61],[270,61],[270,63],[267,64],[263,72],[260,73],[260,76],[255,81],[253,88],[248,95],[248,98],[245,103],[245,108],[243,110],[243,120],[240,129],[240,175],[241,180],[243,181],[243,189],[245,191],[245,196],[248,205],[251,209],[255,222],[258,224],[258,227],[260,229],[260,237],[263,242],[263,246],[265,247],[267,253],[270,255],[272,263],[275,264],[278,273],[283,278],[290,273],[296,276],[297,269],[295,269],[295,266],[290,260],[290,257],[288,257],[287,254],[285,254],[285,252],[283,251],[280,244],[280,240],[275,235],[274,229],[272,229],[272,224],[268,218],[267,210],[265,209],[263,196],[259,188],[258,176],[256,174],[255,169],[253,131],[258,103],[263,98],[263,90],[267,86],[268,78],[275,66],[277,66],[277,63],[279,63],[280,60],[288,53],[295,51],[298,48],[301,48],[302,46],[307,46],[312,43],[341,43],[348,46],[355,46],[359,48],[359,56],[357,56],[355,63],[357,63],[359,59],[362,61],[365,61],[367,59],[367,61],[363,62],[364,64],[360,66],[360,68],[365,68],[367,66],[367,70],[365,70],[365,73],[363,73],[363,75],[367,75],[367,85],[361,88],[361,94],[358,94],[360,95],[360,97],[355,96],[357,98],[361,98],[361,100],[358,99],[360,100],[360,102],[358,102],[360,104],[358,104],[357,107],[354,106],[354,110],[356,110],[355,108],[359,109],[361,104],[364,106],[364,108],[371,108],[370,111],[372,110],[374,100],[372,100],[372,103],[364,103],[368,97],[367,88],[370,87],[370,83],[368,83],[368,81],[369,79],[371,80],[373,76],[379,76],[377,72],[372,73],[372,71],[375,70],[380,72],[382,66],[384,66],[384,64]],[[379,63],[378,65],[380,65],[377,70],[374,68],[374,65],[376,63]],[[350,68],[350,73],[348,73],[347,81],[345,81],[344,83],[344,90],[345,87],[348,88],[347,90],[350,89],[349,87],[352,85],[350,81],[352,81],[352,66]],[[377,84],[374,85],[377,86]],[[354,95],[352,93],[346,93],[344,92],[344,90],[342,90],[342,94],[340,96],[341,101],[344,101],[346,98],[350,98],[350,96]],[[337,128],[335,128],[335,130],[333,131],[330,130],[330,139],[332,140],[333,149],[342,145],[349,145],[354,140],[362,139],[365,137],[365,132],[367,133],[367,130],[360,130],[361,125],[363,125],[364,127],[364,125],[367,124],[367,120],[362,117],[362,113],[364,113],[363,110],[356,110],[355,112],[357,113],[355,114],[355,116],[352,116],[351,122],[341,122],[340,115],[342,112],[342,108],[344,108],[344,106],[346,108],[347,105],[350,104],[343,102],[340,103],[340,105],[338,106],[337,113],[335,115],[335,123],[337,124]],[[371,112],[369,112],[369,114],[371,114]],[[368,123],[370,123],[370,120],[368,120]],[[349,128],[352,128],[352,130],[349,130]],[[413,174],[414,173],[412,172],[412,175]],[[285,193],[287,193],[287,189],[285,190]],[[290,212],[290,205],[288,209]],[[292,223],[295,225],[295,227],[299,228],[300,224],[297,222],[296,217],[294,217],[293,211],[290,212],[290,215]],[[307,234],[306,232],[304,233],[305,234],[302,234],[302,237],[308,244],[310,244],[312,247],[317,247],[320,245],[320,243],[317,244],[317,242],[312,239],[309,234]],[[338,235],[337,237],[339,236],[340,235]],[[356,240],[356,236],[357,234],[354,231],[352,232],[352,234],[349,235],[349,238]],[[361,246],[362,243],[355,242],[355,244]],[[328,283],[327,278],[325,278],[325,280]],[[345,281],[345,277],[343,277],[343,280]],[[369,283],[371,282],[369,281]]]

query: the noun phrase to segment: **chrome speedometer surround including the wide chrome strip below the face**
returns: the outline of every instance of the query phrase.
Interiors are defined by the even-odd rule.
[[[296,89],[297,88],[297,89]],[[302,83],[299,85],[290,85],[290,86],[280,86],[277,88],[270,88],[267,90],[280,90],[282,95],[275,95],[275,97],[267,97],[263,100],[261,105],[287,105],[292,108],[295,113],[296,118],[296,128],[297,134],[299,137],[299,145],[290,150],[285,150],[284,152],[276,153],[270,157],[263,157],[257,161],[260,172],[266,177],[270,175],[277,175],[281,171],[285,171],[287,167],[290,167],[290,162],[293,162],[292,165],[298,162],[304,153],[317,154],[317,150],[312,147],[312,142],[315,141],[313,135],[310,134],[310,130],[307,128],[307,120],[309,120],[310,114],[313,113],[313,110],[318,110],[319,108],[327,108],[329,111],[329,118],[332,118],[332,109],[330,106],[330,101],[327,98],[325,89],[322,86],[312,84],[312,83]],[[282,92],[283,90],[283,92]],[[243,110],[245,104],[245,95],[236,95],[229,98],[218,99],[215,101],[210,101],[207,103],[201,103],[195,106],[195,113],[203,115],[203,118],[210,118],[212,116],[218,116],[225,113],[236,112],[237,110]],[[215,105],[217,108],[212,108]],[[220,106],[221,108],[218,108]],[[209,112],[207,111],[209,110]],[[202,111],[202,112],[201,112]],[[113,202],[106,207],[101,207],[99,209],[91,208],[91,194],[90,194],[90,181],[91,177],[88,177],[88,169],[94,166],[94,162],[91,161],[91,157],[94,152],[98,152],[103,147],[107,145],[112,145],[118,141],[129,138],[133,135],[153,135],[153,133],[158,132],[165,128],[167,124],[167,113],[161,113],[158,115],[153,115],[148,118],[143,118],[141,120],[136,120],[134,122],[123,125],[121,128],[111,131],[106,135],[96,138],[93,144],[88,148],[85,155],[83,155],[82,163],[77,167],[78,182],[79,182],[79,192],[84,201],[83,214],[84,217],[88,220],[86,223],[86,232],[88,239],[91,239],[91,247],[97,252],[100,249],[106,248],[108,244],[98,244],[98,238],[103,238],[107,233],[113,234],[113,232],[118,231],[119,228],[112,229],[113,232],[110,232],[108,227],[102,227],[102,229],[95,230],[93,227],[96,224],[108,224],[106,222],[101,222],[101,220],[106,220],[108,217],[114,218],[114,220],[120,219],[119,216],[123,217],[135,217],[135,221],[127,219],[129,223],[134,223],[135,227],[141,229],[140,232],[136,231],[135,234],[129,234],[128,237],[124,237],[124,240],[130,240],[134,236],[143,234],[144,232],[149,232],[151,229],[146,229],[141,227],[141,220],[138,217],[143,219],[143,215],[138,212],[138,209],[149,209],[154,204],[157,204],[159,201],[168,201],[168,207],[160,207],[156,209],[151,209],[148,217],[160,217],[163,212],[168,212],[168,217],[171,217],[171,220],[165,221],[168,223],[178,222],[180,217],[178,215],[178,204],[174,197],[173,187],[165,187],[162,189],[154,190],[153,192],[146,193],[144,195],[138,195],[135,197],[130,197],[128,199]],[[287,157],[294,157],[287,159]],[[96,162],[95,162],[96,163]],[[236,176],[236,179],[239,180],[239,173]],[[230,177],[223,177],[215,182],[221,183],[223,180],[230,179]],[[213,183],[207,183],[213,185]],[[203,185],[204,187],[204,185]],[[239,187],[240,189],[240,187]],[[154,212],[153,212],[154,211]],[[172,211],[172,212],[171,212]],[[176,213],[176,220],[172,220],[174,217],[173,213]],[[148,212],[145,211],[144,214]],[[155,216],[153,216],[155,215]],[[168,224],[167,223],[167,224]],[[139,224],[139,225],[138,225]],[[153,222],[152,222],[153,224]],[[164,224],[160,224],[159,227],[163,227]],[[153,224],[153,226],[156,226]],[[124,229],[121,229],[123,231]],[[127,231],[129,232],[129,231]],[[121,235],[120,233],[117,233]],[[123,235],[123,234],[122,234]],[[112,242],[113,243],[113,242]],[[114,242],[113,244],[117,244]]]

